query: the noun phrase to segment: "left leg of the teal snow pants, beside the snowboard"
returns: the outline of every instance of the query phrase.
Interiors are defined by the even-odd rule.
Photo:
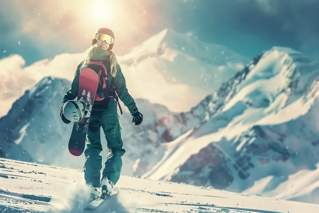
[[[92,111],[87,129],[87,148],[84,151],[84,178],[86,184],[92,184],[93,187],[100,187],[100,171],[102,169],[102,156],[100,156],[100,152],[102,151],[101,125],[99,119],[94,114],[94,111]]]

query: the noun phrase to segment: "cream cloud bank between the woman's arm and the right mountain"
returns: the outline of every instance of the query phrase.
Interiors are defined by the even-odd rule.
[[[134,98],[146,98],[152,103],[165,105],[171,111],[188,111],[207,94],[199,87],[169,82],[163,73],[154,68],[152,60],[136,66],[122,64],[121,69]]]

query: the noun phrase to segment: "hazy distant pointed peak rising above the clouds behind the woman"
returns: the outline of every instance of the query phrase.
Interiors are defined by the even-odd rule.
[[[197,59],[220,66],[224,66],[226,62],[232,62],[234,67],[238,64],[237,66],[242,68],[242,62],[247,61],[247,58],[241,57],[225,46],[208,44],[199,41],[191,33],[181,34],[172,29],[160,31],[120,58],[121,61],[126,61],[126,63],[136,63],[146,57],[157,55],[169,61],[174,61],[174,58],[179,57],[180,54],[190,57],[189,60]]]

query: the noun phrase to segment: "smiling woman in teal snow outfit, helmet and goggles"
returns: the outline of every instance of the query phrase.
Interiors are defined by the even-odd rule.
[[[102,76],[104,84],[99,84],[96,98],[93,103],[90,121],[87,130],[87,148],[84,151],[84,178],[89,187],[90,200],[96,199],[102,193],[102,196],[110,194],[114,184],[118,181],[122,169],[122,155],[125,149],[122,148],[123,142],[119,125],[119,116],[117,114],[118,98],[128,107],[135,125],[140,125],[143,121],[143,115],[137,110],[134,99],[128,93],[125,78],[117,63],[116,57],[112,52],[114,45],[114,33],[108,28],[99,28],[93,34],[92,46],[85,51],[84,60],[78,65],[71,88],[63,97],[63,105],[78,96],[79,73],[82,68],[89,67],[95,72],[106,68]],[[97,65],[92,62],[100,62]],[[90,64],[91,63],[91,64]],[[103,75],[103,72],[102,72]],[[99,76],[100,78],[101,76]],[[62,108],[61,108],[62,109]],[[121,110],[122,113],[122,110]],[[70,123],[64,114],[60,113],[64,123]],[[102,151],[100,128],[102,127],[108,146],[108,158],[105,162],[105,168],[100,180],[100,170],[102,169]],[[100,190],[102,187],[102,190]]]

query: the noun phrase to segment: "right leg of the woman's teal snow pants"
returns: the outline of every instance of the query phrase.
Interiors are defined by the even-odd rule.
[[[123,142],[117,112],[102,112],[100,122],[108,143],[108,158],[105,162],[102,177],[108,177],[115,184],[120,178],[122,156],[125,153],[125,149],[122,148]]]

